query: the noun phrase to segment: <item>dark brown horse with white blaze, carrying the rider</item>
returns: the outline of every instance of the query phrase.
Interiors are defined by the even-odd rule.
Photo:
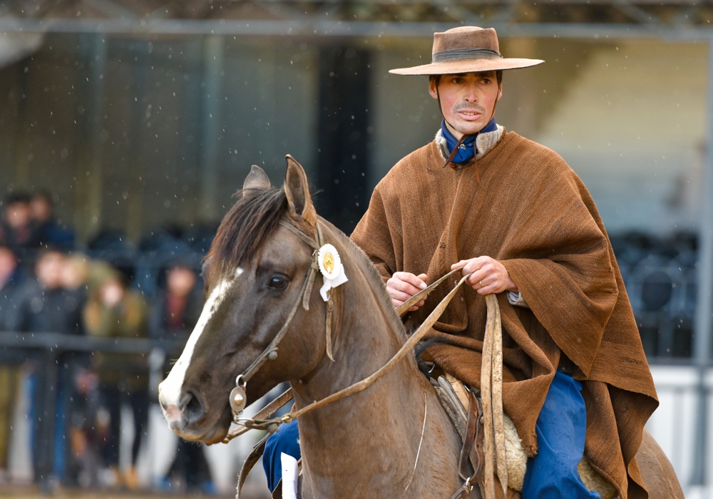
[[[307,176],[288,156],[282,189],[262,170],[245,180],[206,260],[207,301],[180,359],[159,387],[170,428],[183,438],[217,443],[232,413],[228,395],[287,321],[312,265],[312,248],[287,221],[342,257],[349,278],[333,290],[332,350],[325,353],[327,304],[321,278],[309,310],[297,307],[277,356],[247,383],[248,402],[289,381],[297,407],[374,373],[394,356],[406,332],[364,252],[312,206]],[[449,498],[461,487],[461,441],[413,354],[376,384],[299,418],[302,498]],[[683,498],[673,469],[645,433],[637,456],[651,498]],[[480,497],[478,490],[471,493]]]

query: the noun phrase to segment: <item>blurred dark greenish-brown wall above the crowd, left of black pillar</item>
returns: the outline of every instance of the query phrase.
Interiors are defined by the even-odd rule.
[[[262,165],[314,164],[314,49],[290,38],[51,35],[0,70],[0,182],[51,190],[86,240],[220,220]]]

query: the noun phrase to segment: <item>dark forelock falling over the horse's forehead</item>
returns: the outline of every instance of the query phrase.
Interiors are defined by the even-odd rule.
[[[238,191],[237,195],[241,194],[220,222],[205,257],[220,262],[210,265],[206,285],[252,259],[287,212],[287,195],[282,188]]]

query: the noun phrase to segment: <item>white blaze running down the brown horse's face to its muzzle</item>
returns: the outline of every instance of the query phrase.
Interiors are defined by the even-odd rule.
[[[183,389],[185,373],[188,371],[190,359],[193,358],[195,344],[198,343],[198,339],[203,333],[208,321],[210,321],[211,317],[217,312],[218,307],[220,307],[220,304],[222,304],[225,294],[227,294],[227,291],[232,287],[232,284],[235,284],[235,280],[242,272],[242,269],[238,267],[233,279],[223,279],[213,288],[212,292],[210,292],[210,296],[206,300],[205,305],[203,305],[203,310],[200,313],[198,322],[188,337],[183,353],[180,354],[178,361],[176,361],[166,379],[158,386],[160,406],[163,410],[163,416],[165,416],[169,425],[172,422],[178,422],[181,417],[182,411],[178,411],[178,401],[180,400],[181,389]]]

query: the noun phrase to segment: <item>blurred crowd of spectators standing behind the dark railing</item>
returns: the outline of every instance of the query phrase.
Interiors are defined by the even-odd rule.
[[[140,254],[153,254],[153,261],[137,257],[123,239],[105,233],[80,251],[71,228],[54,219],[50,193],[7,197],[0,222],[0,331],[185,340],[202,309],[198,267],[210,235],[200,239],[197,250],[151,232],[149,249]],[[164,363],[165,373],[170,361]],[[65,485],[138,488],[135,464],[152,402],[148,355],[67,352],[59,364],[64,369],[56,390],[53,477]],[[37,371],[31,360],[0,366],[0,468],[9,463],[16,399],[24,391],[39,481],[36,463],[43,449],[36,422],[43,387]],[[128,470],[119,467],[122,405],[130,406],[135,430]],[[178,483],[184,490],[210,492],[200,446],[184,441],[178,446],[162,486]]]

